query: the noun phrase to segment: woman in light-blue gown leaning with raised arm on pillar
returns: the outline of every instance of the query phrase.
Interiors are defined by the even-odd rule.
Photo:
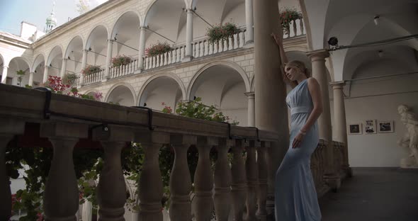
[[[286,97],[291,113],[290,145],[276,172],[276,220],[320,221],[321,211],[310,171],[310,156],[319,142],[320,85],[309,77],[303,62],[287,61],[281,35],[272,35],[285,64],[283,79],[293,87]]]

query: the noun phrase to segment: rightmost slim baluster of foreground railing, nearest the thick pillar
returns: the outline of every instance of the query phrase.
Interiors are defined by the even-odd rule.
[[[258,211],[257,215],[261,220],[266,220],[267,210],[266,210],[266,199],[267,199],[267,160],[266,152],[267,148],[270,147],[270,142],[263,141],[259,148],[257,148],[257,166],[259,169],[259,189],[257,191],[257,204]]]

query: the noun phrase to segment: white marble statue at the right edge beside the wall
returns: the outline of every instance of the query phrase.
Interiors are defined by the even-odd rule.
[[[401,147],[407,147],[410,152],[407,158],[401,159],[400,166],[402,168],[418,167],[418,120],[408,106],[398,106],[397,112],[400,114],[400,120],[407,128],[407,132],[397,144]]]

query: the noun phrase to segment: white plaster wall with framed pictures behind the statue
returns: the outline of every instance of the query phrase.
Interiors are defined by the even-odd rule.
[[[399,62],[383,60],[363,65],[357,70],[356,78],[405,73],[408,70]],[[397,106],[406,104],[418,114],[417,83],[418,74],[412,74],[351,84],[350,97],[345,99],[347,125],[363,123],[363,135],[348,135],[351,166],[399,166],[400,159],[407,156],[407,150],[397,146],[397,140],[405,133]],[[366,135],[364,120],[393,120],[395,132]]]

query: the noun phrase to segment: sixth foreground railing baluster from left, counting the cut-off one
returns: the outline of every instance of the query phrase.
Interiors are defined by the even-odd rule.
[[[198,137],[196,145],[199,153],[194,185],[196,193],[196,220],[210,220],[213,211],[213,175],[210,169],[210,149],[218,145],[215,137]]]

